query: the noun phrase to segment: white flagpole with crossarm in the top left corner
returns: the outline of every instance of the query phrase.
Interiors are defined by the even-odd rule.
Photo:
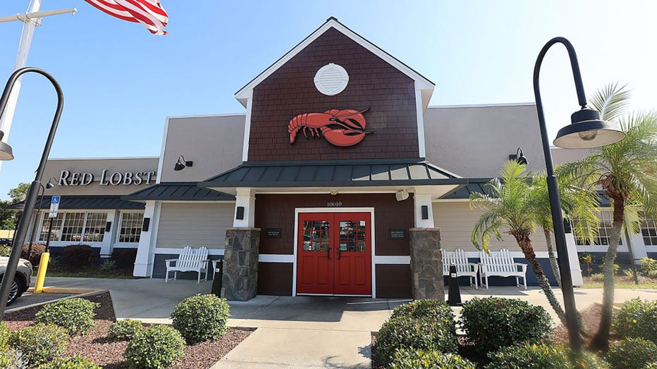
[[[70,8],[62,11],[39,12],[40,7],[41,0],[32,0],[25,14],[16,14],[0,18],[0,22],[11,22],[13,20],[20,20],[23,22],[23,32],[20,35],[18,55],[16,56],[16,64],[14,65],[14,70],[25,67],[27,63],[27,54],[30,52],[30,44],[32,44],[32,36],[35,33],[35,27],[37,27],[37,25],[41,25],[41,17],[63,13],[75,14],[75,11],[77,11],[75,8]],[[16,111],[16,103],[18,102],[18,92],[20,92],[20,78],[16,80],[16,84],[13,85],[13,89],[11,89],[11,94],[9,94],[9,99],[7,101],[7,106],[5,108],[4,114],[2,117],[0,117],[0,130],[4,132],[4,142],[7,142],[9,138],[9,130],[11,129],[13,114]],[[2,161],[0,161],[0,166],[1,165]]]

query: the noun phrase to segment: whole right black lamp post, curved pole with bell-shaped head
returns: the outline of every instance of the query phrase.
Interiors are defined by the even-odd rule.
[[[573,351],[582,349],[582,341],[579,339],[579,325],[577,323],[577,308],[575,307],[575,294],[572,290],[572,275],[570,274],[570,262],[568,261],[568,251],[566,248],[566,238],[563,228],[563,217],[561,214],[561,201],[557,180],[554,176],[552,163],[552,154],[550,151],[550,142],[545,125],[545,116],[543,113],[543,103],[541,101],[541,92],[539,90],[539,72],[541,63],[546,52],[553,44],[563,44],[570,56],[570,67],[575,79],[575,88],[577,89],[577,99],[581,109],[573,113],[570,117],[571,123],[559,130],[554,140],[555,146],[565,149],[589,149],[599,146],[613,144],[625,138],[625,133],[620,130],[614,123],[600,120],[600,114],[597,111],[587,107],[587,97],[584,94],[584,85],[582,85],[582,75],[579,73],[579,63],[575,49],[570,42],[563,37],[555,37],[548,41],[536,59],[534,66],[534,96],[536,96],[536,113],[539,115],[539,126],[541,128],[541,139],[543,139],[543,152],[545,156],[545,166],[547,170],[548,194],[550,196],[550,207],[552,212],[552,223],[554,225],[554,238],[557,248],[559,268],[561,270],[561,289],[563,291],[563,303],[565,308],[566,325],[568,327],[568,336],[570,346]]]

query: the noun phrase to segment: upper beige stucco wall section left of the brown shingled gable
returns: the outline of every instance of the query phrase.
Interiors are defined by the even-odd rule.
[[[167,118],[161,182],[207,180],[242,163],[245,115]],[[176,172],[180,155],[192,167]]]

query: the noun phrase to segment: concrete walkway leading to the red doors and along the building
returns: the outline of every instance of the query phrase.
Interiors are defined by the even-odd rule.
[[[49,277],[49,287],[109,289],[117,318],[170,323],[168,316],[182,299],[210,292],[211,282],[191,280],[101,280]],[[558,299],[561,292],[555,289]],[[474,296],[518,298],[543,306],[558,324],[538,287],[474,289],[462,287],[462,301]],[[615,301],[634,297],[657,299],[657,289],[617,289]],[[577,308],[602,300],[601,289],[575,289]],[[255,327],[247,339],[213,368],[370,368],[371,332],[379,330],[403,299],[327,296],[257,296],[246,302],[229,301],[233,327]],[[563,300],[562,300],[563,304]],[[455,308],[460,313],[460,308]]]

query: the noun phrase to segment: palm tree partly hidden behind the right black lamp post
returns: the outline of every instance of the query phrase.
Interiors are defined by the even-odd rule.
[[[591,177],[578,179],[577,183],[573,183],[571,178],[564,177],[558,177],[557,181],[565,216],[578,220],[574,227],[576,237],[591,241],[597,234],[599,223],[597,193],[587,186],[591,184]],[[529,201],[532,201],[531,208],[536,211],[534,214],[536,223],[543,230],[552,272],[561,287],[561,273],[552,243],[553,224],[546,173],[534,177]]]

